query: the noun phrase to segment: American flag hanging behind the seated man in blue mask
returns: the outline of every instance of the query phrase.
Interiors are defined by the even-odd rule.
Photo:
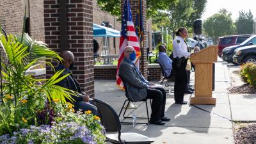
[[[116,70],[116,84],[119,88],[124,90],[124,84],[122,80],[118,76],[118,70],[120,67],[120,63],[124,58],[124,48],[126,46],[134,47],[136,51],[136,60],[133,62],[135,63],[136,67],[139,68],[140,64],[140,45],[138,43],[138,37],[135,33],[134,24],[132,22],[132,12],[129,0],[125,0],[124,2],[124,13],[122,15],[122,29],[121,29],[121,38],[119,44],[119,55],[118,55],[118,64]]]

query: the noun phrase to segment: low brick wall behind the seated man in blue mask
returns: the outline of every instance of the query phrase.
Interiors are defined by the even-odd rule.
[[[148,80],[160,81],[162,79],[162,72],[159,64],[148,65]],[[116,79],[116,65],[95,65],[94,79]]]

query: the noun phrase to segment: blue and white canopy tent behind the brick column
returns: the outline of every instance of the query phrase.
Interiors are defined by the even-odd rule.
[[[93,36],[94,37],[120,37],[120,31],[107,28],[106,26],[93,24]]]

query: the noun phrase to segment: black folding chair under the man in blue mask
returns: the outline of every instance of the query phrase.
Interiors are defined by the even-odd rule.
[[[121,76],[119,76],[119,77],[122,79]],[[121,115],[121,113],[122,113],[122,111],[123,111],[123,109],[124,109],[125,104],[126,104],[127,101],[128,101],[128,104],[126,105],[126,108],[125,108],[123,117],[124,117],[124,119],[125,119],[125,118],[132,118],[131,116],[125,116],[125,113],[126,113],[126,111],[127,111],[127,108],[128,108],[128,106],[129,106],[129,104],[130,104],[131,102],[133,102],[133,101],[132,101],[131,99],[129,99],[129,95],[128,95],[128,93],[127,93],[126,83],[125,83],[124,79],[122,79],[122,81],[123,81],[123,83],[124,83],[125,97],[127,97],[127,99],[124,101],[124,104],[123,104],[122,109],[121,109],[121,111],[120,111],[120,113],[119,113],[119,115],[118,115],[118,118],[120,117],[120,115]],[[148,123],[149,123],[150,117],[149,117],[149,114],[148,114],[148,102],[147,102],[147,100],[148,100],[147,98],[146,98],[146,99],[143,99],[143,100],[140,100],[140,102],[145,102],[145,104],[146,104],[147,117],[136,117],[136,118],[140,118],[140,119],[146,119],[146,118],[147,118],[148,122],[147,122],[147,123],[145,123],[145,122],[136,122],[137,124],[148,124]],[[151,99],[149,99],[149,101],[150,101],[150,108],[151,108],[151,106],[152,106]],[[121,122],[121,124],[132,124],[132,122]]]

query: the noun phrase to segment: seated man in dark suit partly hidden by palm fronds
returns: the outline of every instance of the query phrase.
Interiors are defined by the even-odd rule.
[[[74,109],[76,111],[79,111],[81,109],[82,111],[92,111],[93,115],[97,115],[97,108],[96,106],[93,106],[92,100],[90,100],[90,97],[84,93],[81,92],[81,88],[79,86],[79,83],[74,79],[72,72],[70,72],[70,69],[74,66],[74,54],[70,51],[63,51],[60,54],[61,58],[63,58],[63,61],[58,65],[56,68],[56,71],[60,71],[65,69],[61,76],[65,76],[67,74],[67,77],[65,79],[62,79],[57,85],[62,86],[63,88],[67,88],[69,90],[73,90],[74,92],[78,92],[77,97],[72,95],[72,98],[74,101]],[[68,101],[68,100],[67,100]],[[70,102],[70,101],[68,101]]]

